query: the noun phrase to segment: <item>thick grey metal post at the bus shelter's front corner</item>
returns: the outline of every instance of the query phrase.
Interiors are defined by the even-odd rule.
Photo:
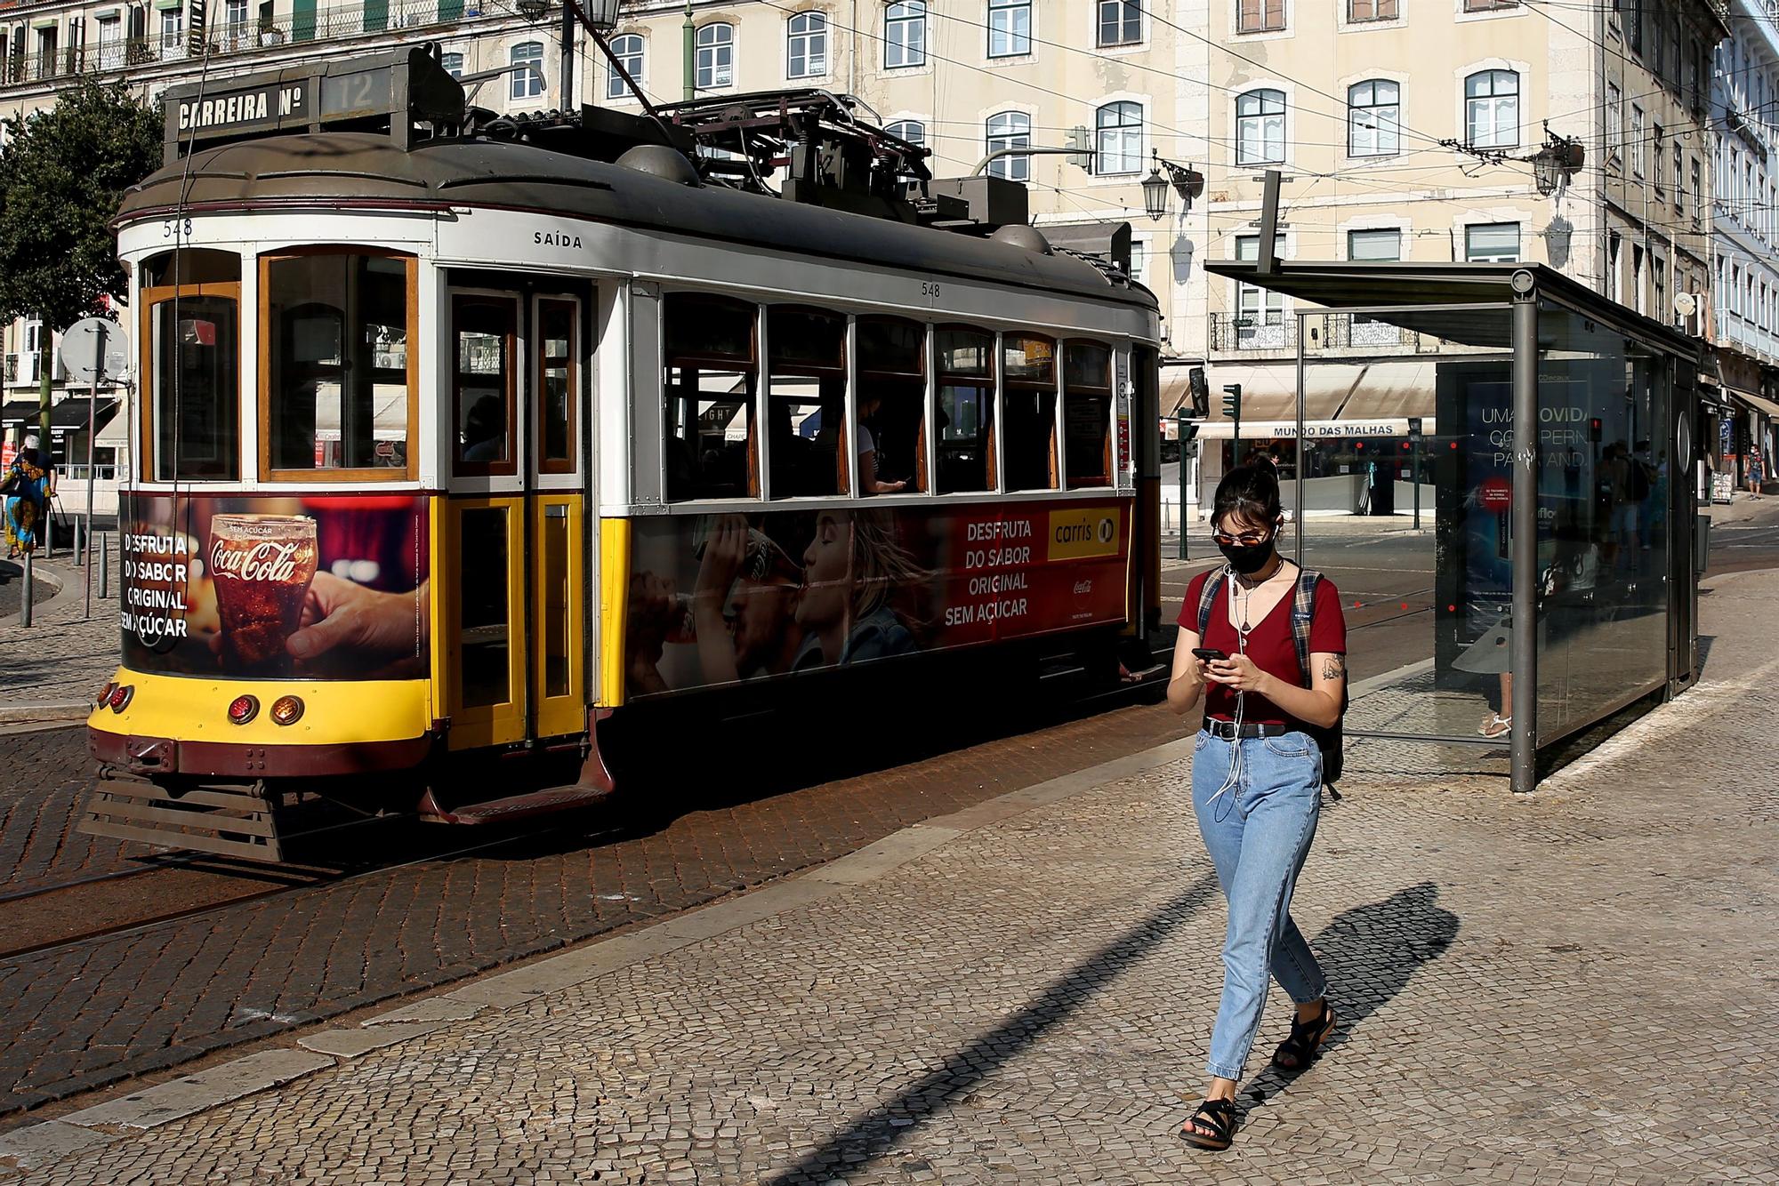
[[[1539,301],[1530,272],[1514,276],[1514,672],[1510,736],[1516,793],[1537,789],[1539,729]]]

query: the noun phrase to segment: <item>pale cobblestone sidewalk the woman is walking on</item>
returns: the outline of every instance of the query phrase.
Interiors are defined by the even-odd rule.
[[[1297,909],[1345,1022],[1295,1081],[1254,1060],[1228,1154],[1174,1136],[1222,932],[1179,759],[511,973],[233,1104],[69,1117],[101,1143],[41,1181],[1775,1181],[1779,574],[1706,606],[1745,644],[1530,800],[1350,781]]]

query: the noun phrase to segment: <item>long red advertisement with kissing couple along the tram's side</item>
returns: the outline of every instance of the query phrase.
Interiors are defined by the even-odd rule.
[[[639,519],[630,695],[1124,619],[1128,503]]]

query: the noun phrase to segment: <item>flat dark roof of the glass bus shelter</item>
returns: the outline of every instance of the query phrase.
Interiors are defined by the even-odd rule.
[[[1281,260],[1272,272],[1261,276],[1254,261],[1211,260],[1204,270],[1329,309],[1391,308],[1393,311],[1379,315],[1379,320],[1446,341],[1496,350],[1514,345],[1505,306],[1514,299],[1514,274],[1528,272],[1539,295],[1553,297],[1583,317],[1605,322],[1669,354],[1695,361],[1701,354],[1697,338],[1635,313],[1542,263]],[[1500,304],[1503,317],[1477,317],[1475,311],[1441,308],[1462,304]]]

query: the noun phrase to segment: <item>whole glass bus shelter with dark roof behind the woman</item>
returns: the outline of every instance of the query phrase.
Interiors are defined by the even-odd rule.
[[[1206,270],[1316,306],[1272,302],[1295,423],[1233,445],[1279,461],[1348,622],[1420,656],[1356,685],[1347,736],[1505,747],[1530,791],[1558,743],[1692,685],[1697,340],[1541,265]]]

